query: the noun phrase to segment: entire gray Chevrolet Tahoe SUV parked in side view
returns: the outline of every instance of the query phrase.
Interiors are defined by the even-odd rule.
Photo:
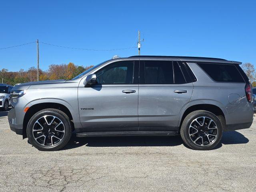
[[[210,150],[222,132],[249,128],[252,88],[240,62],[218,58],[112,58],[72,80],[15,86],[11,130],[39,150],[78,137],[181,135]]]

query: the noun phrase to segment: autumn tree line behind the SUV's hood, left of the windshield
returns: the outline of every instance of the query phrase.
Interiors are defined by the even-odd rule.
[[[85,70],[88,70],[91,66],[76,66],[74,63],[69,64],[52,64],[48,67],[48,70],[39,69],[39,80],[58,80],[58,79],[72,79]],[[17,83],[26,83],[37,81],[37,69],[30,67],[28,70],[20,69],[18,72],[9,72],[8,69],[2,68],[0,70],[0,83],[15,85]]]

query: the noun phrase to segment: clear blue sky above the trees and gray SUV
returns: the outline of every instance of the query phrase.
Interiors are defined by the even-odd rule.
[[[137,46],[141,55],[216,57],[256,66],[254,0],[12,0],[0,4],[0,69],[37,65],[36,43],[84,49]],[[50,64],[95,65],[138,48],[76,50],[39,43],[40,68]]]

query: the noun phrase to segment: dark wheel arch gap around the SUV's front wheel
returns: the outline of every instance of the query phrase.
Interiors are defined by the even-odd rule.
[[[23,129],[22,129],[23,139],[27,138],[26,129],[27,129],[27,125],[28,125],[30,118],[34,114],[36,114],[36,112],[43,110],[43,109],[47,109],[47,108],[53,108],[53,109],[58,109],[58,110],[63,111],[70,119],[72,129],[74,130],[73,116],[72,116],[70,110],[65,105],[60,104],[60,103],[55,103],[55,102],[37,103],[37,104],[30,106],[30,108],[28,108],[28,110],[26,111],[26,114],[24,116]]]

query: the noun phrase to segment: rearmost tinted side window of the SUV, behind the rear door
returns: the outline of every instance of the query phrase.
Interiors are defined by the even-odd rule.
[[[198,63],[198,65],[217,82],[243,82],[240,72],[233,64]]]

